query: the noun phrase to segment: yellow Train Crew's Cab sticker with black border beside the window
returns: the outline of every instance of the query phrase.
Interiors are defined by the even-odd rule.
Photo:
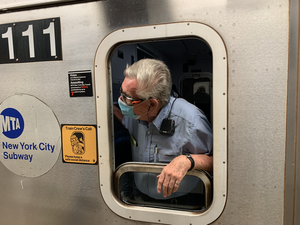
[[[97,135],[93,125],[62,125],[63,161],[97,163]]]

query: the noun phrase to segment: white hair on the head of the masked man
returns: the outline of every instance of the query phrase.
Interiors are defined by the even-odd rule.
[[[142,99],[155,98],[162,107],[170,101],[172,78],[168,67],[156,59],[142,59],[127,65],[124,75],[137,79],[137,95]]]

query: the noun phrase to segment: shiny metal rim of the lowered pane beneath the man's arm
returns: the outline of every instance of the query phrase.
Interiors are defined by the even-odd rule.
[[[144,173],[161,173],[167,164],[164,163],[141,163],[141,162],[127,162],[120,165],[114,174],[114,189],[115,194],[121,199],[120,178],[127,172],[144,172]],[[212,203],[212,184],[209,174],[204,170],[188,171],[186,176],[195,176],[199,178],[205,187],[205,209]],[[202,212],[201,212],[202,213]]]

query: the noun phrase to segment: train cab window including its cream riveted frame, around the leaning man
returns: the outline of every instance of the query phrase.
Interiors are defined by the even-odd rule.
[[[120,52],[122,57],[118,57]],[[199,107],[213,124],[213,173],[188,172],[183,179],[186,185],[168,199],[151,188],[166,164],[135,162],[132,137],[113,116],[123,71],[127,64],[142,58],[164,61],[172,74],[172,94]],[[170,224],[214,221],[227,194],[227,57],[220,36],[198,23],[115,31],[96,53],[95,84],[99,179],[106,204],[133,220]]]

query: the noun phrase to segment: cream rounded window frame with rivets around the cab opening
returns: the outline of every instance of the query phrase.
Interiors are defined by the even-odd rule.
[[[199,38],[207,42],[213,55],[213,201],[203,213],[174,211],[122,203],[114,193],[113,105],[111,56],[124,43],[170,38]],[[116,30],[100,43],[95,56],[95,95],[99,157],[99,185],[107,206],[127,219],[167,224],[209,224],[222,213],[227,199],[227,52],[221,36],[211,27],[196,22],[180,22]]]

